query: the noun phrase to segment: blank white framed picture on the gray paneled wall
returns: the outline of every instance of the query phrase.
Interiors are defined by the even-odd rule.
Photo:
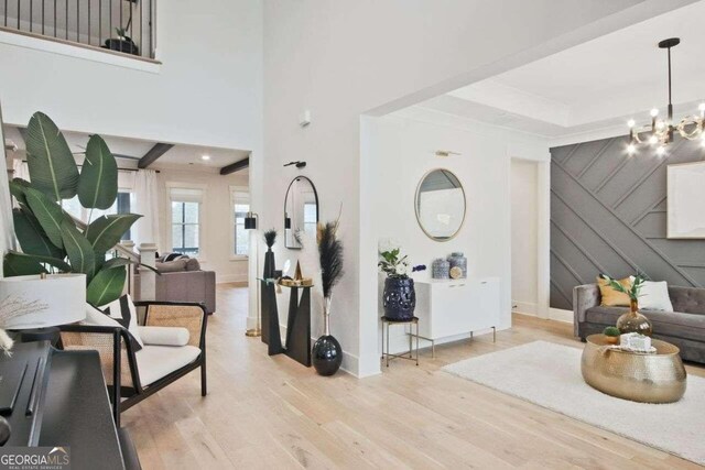
[[[669,239],[705,239],[705,162],[669,165]]]

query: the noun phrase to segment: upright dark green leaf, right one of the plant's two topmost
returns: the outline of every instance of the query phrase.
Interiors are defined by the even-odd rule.
[[[78,200],[88,209],[109,209],[118,197],[118,164],[100,135],[91,135],[78,177]]]

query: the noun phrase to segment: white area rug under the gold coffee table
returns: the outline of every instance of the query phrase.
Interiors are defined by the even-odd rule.
[[[456,362],[444,371],[705,464],[705,379],[688,375],[677,403],[615,398],[581,374],[583,350],[534,341]],[[605,423],[604,416],[610,419]]]

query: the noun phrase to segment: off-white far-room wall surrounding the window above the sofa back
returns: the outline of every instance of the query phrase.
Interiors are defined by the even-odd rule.
[[[167,183],[183,184],[184,187],[195,185],[204,188],[204,204],[200,227],[200,247],[198,254],[200,267],[216,272],[216,282],[246,282],[248,280],[247,259],[232,255],[230,229],[230,186],[248,186],[247,175],[219,175],[213,172],[193,171],[174,167],[160,167],[158,182],[160,186],[160,252],[171,251],[170,199]]]

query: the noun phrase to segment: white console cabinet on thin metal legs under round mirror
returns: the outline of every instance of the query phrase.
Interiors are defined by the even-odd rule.
[[[419,335],[438,339],[495,329],[499,324],[499,277],[415,281]]]

